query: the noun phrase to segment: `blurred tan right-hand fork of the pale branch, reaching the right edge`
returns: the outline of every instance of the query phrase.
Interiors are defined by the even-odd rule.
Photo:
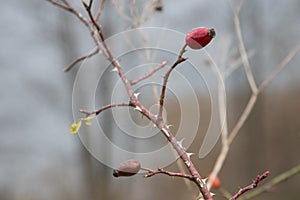
[[[258,92],[262,92],[273,79],[287,66],[287,64],[297,55],[300,51],[300,44],[298,44],[290,53],[281,61],[281,63],[276,67],[272,74],[270,74],[264,82],[258,87]]]

